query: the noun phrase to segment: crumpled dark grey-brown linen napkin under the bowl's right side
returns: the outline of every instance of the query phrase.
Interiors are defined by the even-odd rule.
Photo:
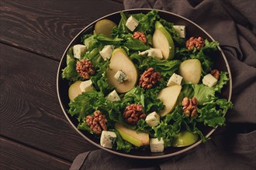
[[[174,12],[220,42],[233,77],[234,108],[227,113],[227,126],[218,128],[211,141],[182,155],[136,160],[97,150],[78,155],[71,169],[255,169],[256,1],[124,0],[124,7]]]

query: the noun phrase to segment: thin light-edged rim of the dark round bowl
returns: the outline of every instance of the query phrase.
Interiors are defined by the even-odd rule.
[[[94,141],[92,141],[91,139],[87,138],[85,136],[85,134],[81,133],[81,131],[79,131],[75,126],[74,124],[72,123],[72,121],[70,120],[70,118],[68,117],[67,115],[67,112],[66,110],[64,109],[64,106],[62,105],[61,103],[61,97],[60,97],[60,91],[59,91],[59,75],[60,75],[60,71],[61,71],[61,63],[63,62],[63,59],[65,58],[65,56],[67,55],[67,50],[70,48],[71,44],[79,37],[81,36],[82,32],[85,32],[86,29],[88,29],[90,26],[93,26],[95,24],[95,22],[98,22],[99,20],[101,19],[105,19],[106,17],[108,17],[109,15],[116,15],[116,14],[119,14],[120,12],[142,12],[142,11],[148,11],[150,12],[151,10],[153,10],[154,8],[133,8],[133,9],[126,9],[126,10],[121,10],[121,11],[118,11],[118,12],[112,12],[108,15],[104,15],[102,16],[101,18],[99,19],[96,19],[94,22],[91,22],[88,26],[85,26],[84,29],[81,29],[80,32],[78,32],[78,34],[76,36],[74,36],[74,38],[71,40],[71,42],[68,44],[67,48],[65,49],[62,57],[61,57],[61,61],[59,63],[59,66],[58,66],[58,69],[57,69],[57,97],[58,97],[58,100],[59,100],[59,103],[61,105],[61,109],[65,115],[65,117],[67,118],[67,121],[69,122],[69,124],[71,124],[71,126],[75,129],[75,131],[78,132],[78,134],[80,134],[83,138],[85,138],[87,141],[89,141],[92,145],[95,145],[96,147],[98,148],[102,148],[103,150],[105,151],[109,151],[110,153],[112,154],[115,154],[115,155],[120,155],[120,156],[123,156],[123,157],[126,157],[126,158],[139,158],[139,159],[159,159],[159,158],[168,158],[168,157],[171,157],[171,156],[175,156],[175,155],[180,155],[182,153],[184,153],[185,151],[189,151],[190,149],[192,148],[195,148],[197,145],[201,144],[202,143],[202,140],[200,141],[197,141],[195,144],[193,145],[190,145],[189,147],[187,148],[184,148],[182,149],[181,151],[176,151],[174,153],[171,153],[171,154],[168,154],[168,155],[157,155],[157,156],[137,156],[137,155],[129,155],[129,153],[125,154],[125,153],[120,153],[118,151],[114,151],[114,150],[111,150],[111,149],[108,149],[108,148],[104,148],[102,146],[100,146],[99,144],[95,143]],[[208,32],[206,32],[206,30],[202,29],[199,25],[197,25],[195,22],[192,22],[190,19],[187,19],[185,17],[183,17],[182,15],[178,15],[178,14],[175,14],[173,12],[167,12],[167,11],[164,11],[164,10],[160,10],[160,9],[155,9],[157,10],[158,12],[164,12],[164,13],[167,13],[169,15],[175,15],[175,16],[178,16],[179,18],[182,18],[182,19],[185,19],[185,21],[187,22],[190,22],[192,23],[192,25],[195,25],[197,28],[201,29],[202,32],[204,32],[207,36],[209,36],[210,39],[212,39],[213,41],[215,41],[215,39],[213,39],[212,36],[209,35]],[[232,76],[231,76],[231,71],[230,71],[230,66],[229,66],[229,63],[227,62],[227,58],[225,56],[225,54],[223,53],[223,50],[220,48],[220,46],[218,46],[218,49],[220,50],[220,53],[221,53],[221,56],[223,57],[225,63],[226,63],[226,66],[227,66],[227,72],[229,73],[229,77],[230,77],[230,82],[229,82],[229,85],[230,85],[230,88],[229,88],[229,96],[228,96],[228,101],[231,100],[231,95],[232,95]],[[217,128],[217,127],[216,127]],[[213,130],[209,131],[208,134],[206,134],[206,138],[209,138],[209,136],[211,134],[213,134],[213,132],[216,130],[216,128],[213,128]]]

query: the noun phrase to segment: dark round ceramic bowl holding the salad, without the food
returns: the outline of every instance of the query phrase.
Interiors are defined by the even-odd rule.
[[[136,13],[147,13],[150,12],[152,9],[146,9],[146,8],[137,8],[137,9],[130,9],[130,10],[123,10],[125,13],[130,13],[130,14],[136,14]],[[185,19],[181,15],[177,15],[175,13],[171,12],[165,12],[161,10],[157,10],[158,14],[162,19],[167,20],[168,22],[173,22],[175,25],[179,26],[186,26],[186,36],[194,36],[194,37],[199,37],[201,36],[203,39],[209,39],[209,41],[213,41],[213,37],[209,35],[204,29],[202,29],[200,26],[195,24],[194,22],[190,21],[189,19]],[[167,158],[171,157],[174,155],[179,155],[185,151],[189,151],[192,148],[195,148],[195,146],[199,145],[202,143],[202,141],[197,141],[195,144],[187,146],[187,147],[182,147],[182,148],[166,148],[163,152],[160,153],[151,153],[150,151],[142,151],[142,150],[132,150],[129,153],[125,153],[123,151],[114,151],[112,149],[108,148],[103,148],[99,144],[99,139],[96,139],[94,135],[86,132],[86,131],[79,131],[77,129],[78,126],[78,121],[76,117],[71,117],[70,114],[67,113],[67,110],[69,109],[68,104],[70,102],[68,98],[68,81],[63,80],[61,78],[61,73],[66,66],[66,56],[67,56],[67,50],[71,47],[74,46],[75,44],[80,43],[81,41],[81,36],[84,34],[92,33],[94,30],[95,23],[101,19],[110,19],[113,22],[116,22],[116,24],[119,23],[120,21],[120,12],[114,12],[112,14],[103,16],[100,19],[95,20],[91,24],[85,27],[85,29],[82,29],[81,32],[78,33],[77,36],[72,39],[70,44],[67,46],[67,49],[64,51],[64,54],[61,58],[61,63],[58,67],[57,71],[57,95],[61,104],[61,108],[64,112],[64,115],[67,117],[67,121],[72,125],[72,127],[75,129],[75,131],[78,131],[79,134],[85,140],[89,141],[92,143],[92,145],[95,145],[99,148],[102,148],[106,151],[109,151],[113,154],[116,155],[122,155],[124,157],[129,157],[129,158],[140,158],[140,159],[156,159],[156,158]],[[226,87],[223,88],[223,91],[221,93],[223,98],[226,98],[228,101],[230,101],[231,98],[231,89],[232,89],[232,80],[231,80],[231,74],[230,74],[230,67],[227,63],[227,58],[225,57],[223,51],[220,49],[220,46],[218,46],[218,50],[216,52],[210,54],[210,56],[213,57],[213,62],[216,63],[214,68],[218,70],[223,70],[227,71],[230,76],[230,82],[226,85]],[[209,137],[211,134],[213,134],[213,131],[215,131],[216,128],[203,128],[200,129],[202,131],[202,134],[204,134],[206,137]]]

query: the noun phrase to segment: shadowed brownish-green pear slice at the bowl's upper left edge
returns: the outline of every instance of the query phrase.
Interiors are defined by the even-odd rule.
[[[112,22],[109,19],[102,19],[96,22],[95,32],[96,34],[103,34],[108,38],[112,38],[111,32],[112,29],[116,26],[115,22]]]

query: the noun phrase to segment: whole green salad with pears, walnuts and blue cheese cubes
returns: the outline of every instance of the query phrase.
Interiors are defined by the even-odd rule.
[[[218,42],[187,37],[158,15],[120,12],[102,19],[67,51],[68,114],[102,147],[161,152],[206,141],[205,127],[225,125],[230,101],[220,97],[229,74],[209,53]],[[201,129],[201,130],[200,130]]]

